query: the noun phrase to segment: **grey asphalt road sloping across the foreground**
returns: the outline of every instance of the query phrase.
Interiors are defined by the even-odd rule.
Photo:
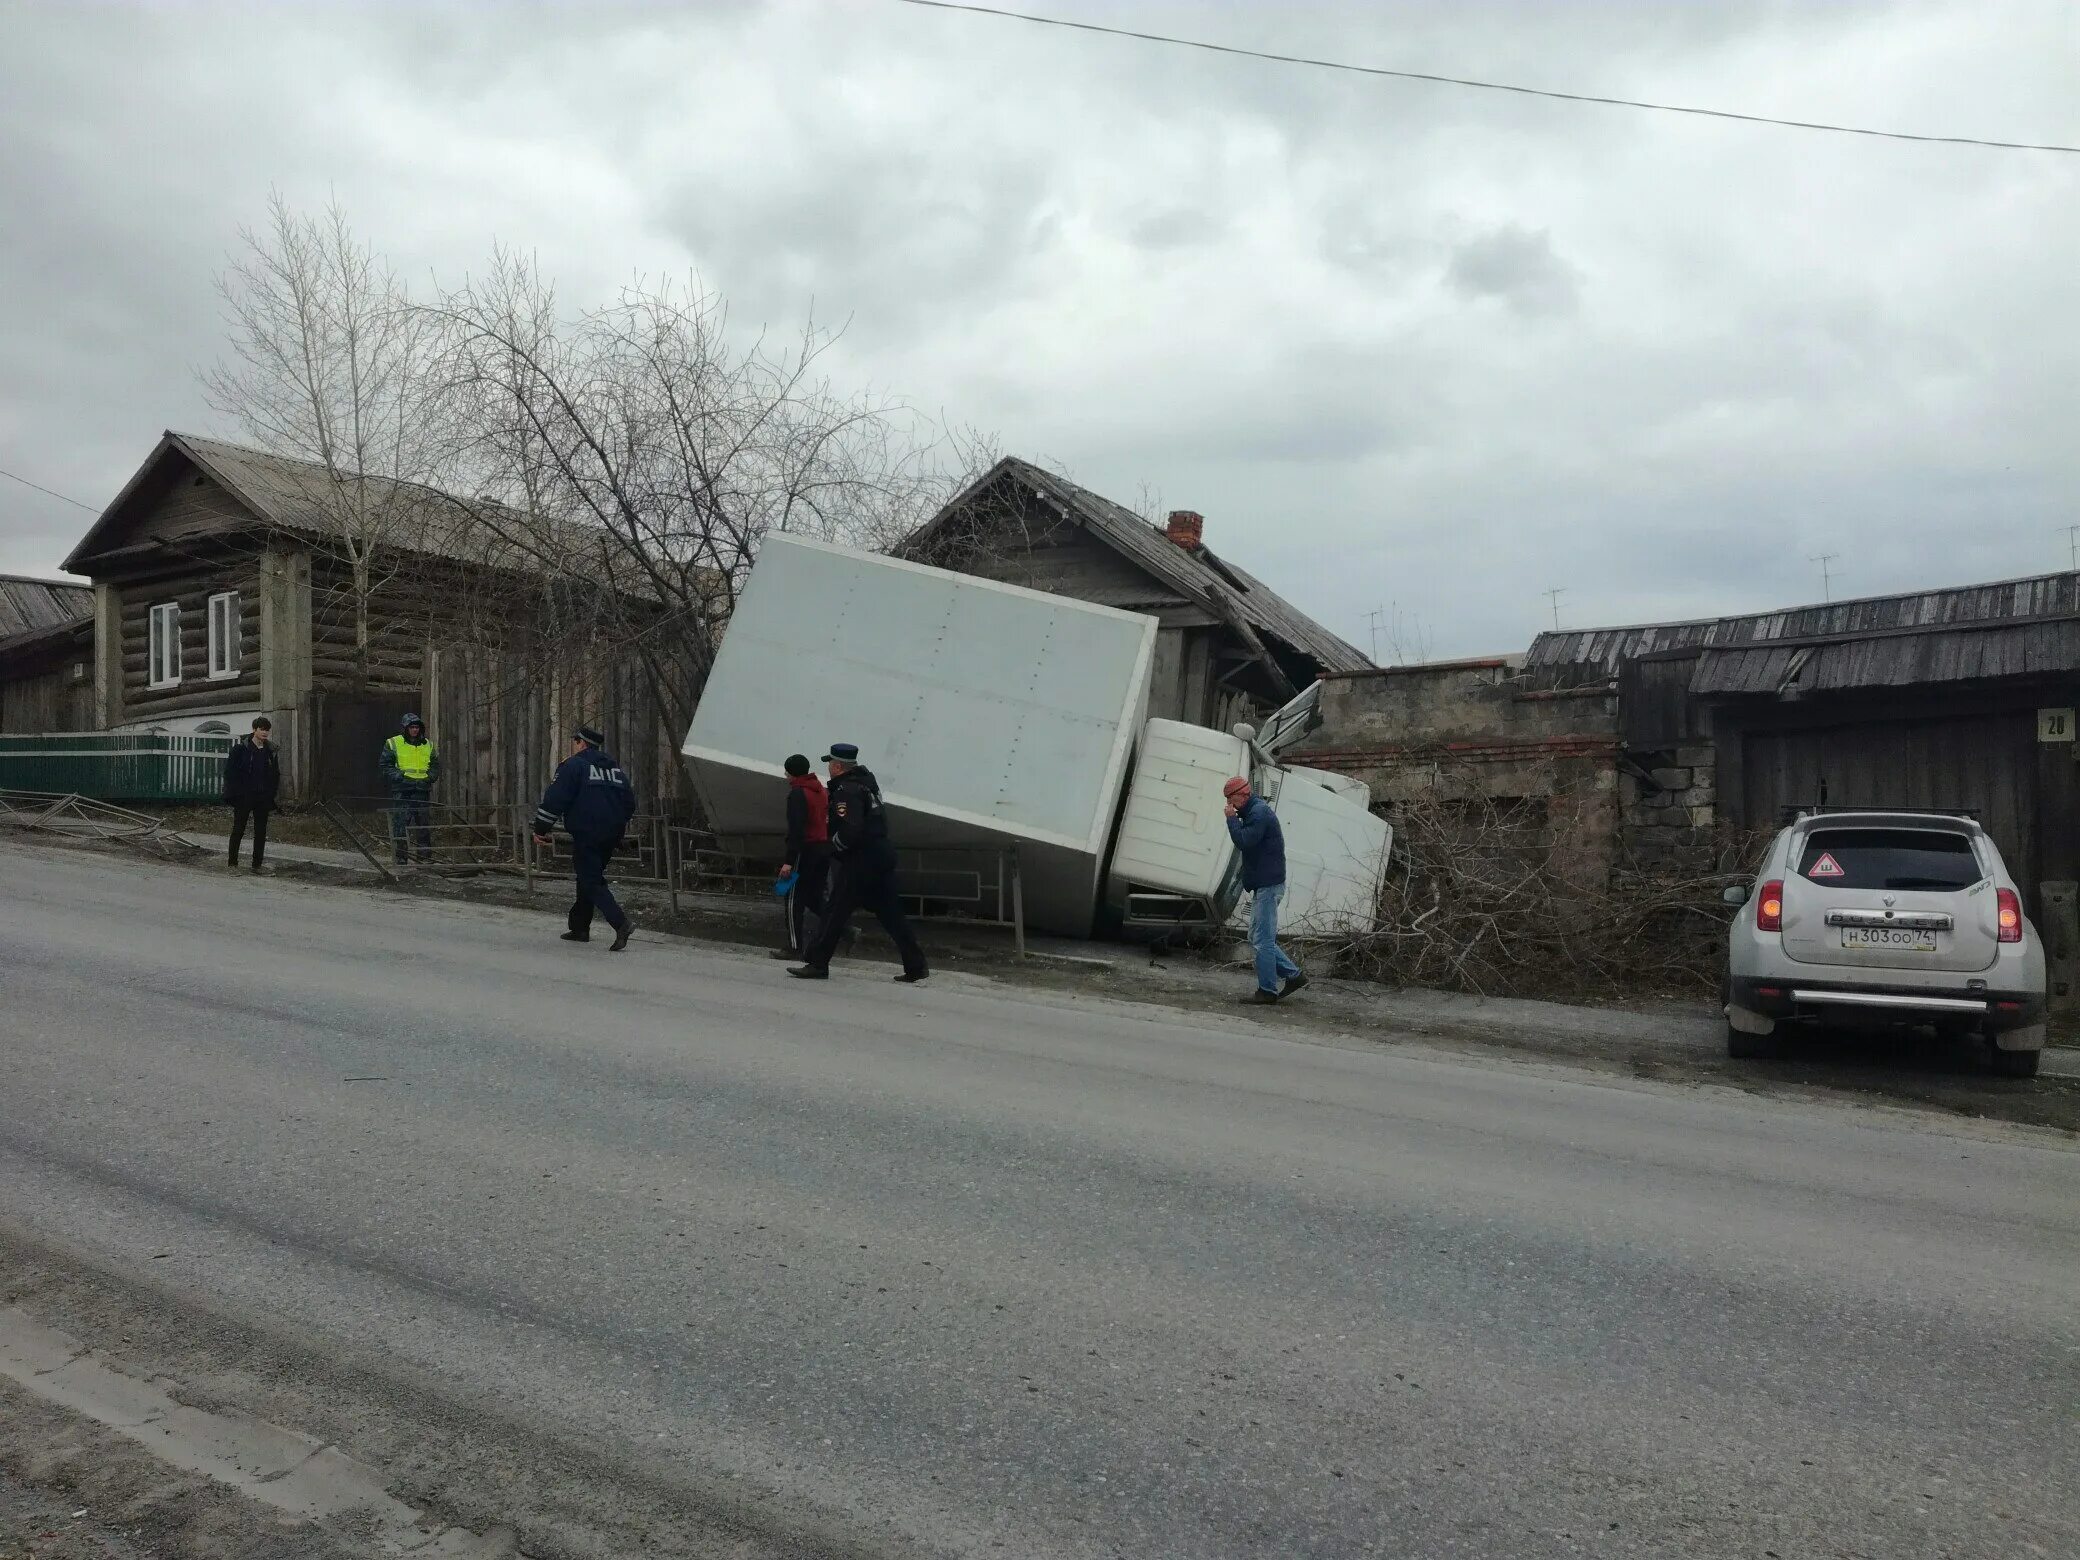
[[[2080,1554],[2051,1134],[553,930],[0,844],[0,1217],[776,1550]]]

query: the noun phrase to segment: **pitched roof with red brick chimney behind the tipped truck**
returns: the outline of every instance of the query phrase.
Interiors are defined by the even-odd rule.
[[[1134,510],[1015,456],[996,462],[932,520],[911,532],[896,551],[915,557],[978,493],[1003,476],[1038,493],[1090,535],[1188,601],[1208,607],[1217,618],[1240,618],[1256,632],[1312,657],[1323,672],[1362,672],[1371,666],[1362,651],[1331,634],[1269,584],[1229,564],[1211,547],[1179,547],[1161,526],[1142,520]]]

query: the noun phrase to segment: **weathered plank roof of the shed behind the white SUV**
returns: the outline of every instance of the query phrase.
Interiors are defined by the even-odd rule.
[[[1824,601],[1737,618],[1539,634],[1527,664],[1616,676],[1697,651],[1693,695],[1976,682],[2080,670],[2080,572]]]

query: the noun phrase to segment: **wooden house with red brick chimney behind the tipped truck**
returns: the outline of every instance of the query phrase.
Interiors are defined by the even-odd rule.
[[[899,557],[1107,607],[1156,634],[1148,713],[1225,730],[1277,709],[1325,672],[1371,661],[1204,541],[1177,510],[1163,526],[1025,460],[996,462],[915,530]]]

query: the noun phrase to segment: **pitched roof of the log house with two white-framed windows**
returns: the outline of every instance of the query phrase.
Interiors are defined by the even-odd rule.
[[[349,520],[339,493],[341,487],[364,485],[370,503],[397,505],[395,520],[385,522],[383,543],[399,551],[493,568],[539,570],[551,562],[541,555],[545,551],[562,568],[595,568],[612,549],[607,532],[595,526],[530,520],[491,499],[464,503],[435,487],[387,476],[349,474],[335,480],[324,466],[312,460],[168,428],[114,501],[102,510],[100,520],[81,537],[71,557],[64,560],[67,568],[102,551],[98,543],[116,528],[127,499],[173,456],[185,458],[212,476],[262,524],[304,537],[347,535]],[[485,520],[497,522],[501,516],[512,524],[483,524]],[[501,541],[497,535],[501,530],[524,535],[528,545]]]

